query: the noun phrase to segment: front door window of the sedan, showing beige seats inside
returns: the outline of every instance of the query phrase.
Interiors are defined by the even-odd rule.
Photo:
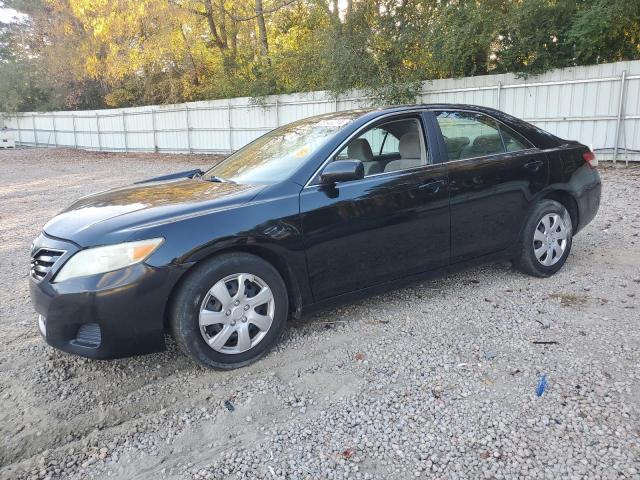
[[[360,160],[365,176],[409,170],[427,164],[427,148],[417,118],[377,125],[351,140],[336,160]]]

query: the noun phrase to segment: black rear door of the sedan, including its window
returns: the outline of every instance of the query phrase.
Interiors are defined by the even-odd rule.
[[[508,248],[547,183],[546,155],[483,113],[434,113],[447,151],[452,263]]]

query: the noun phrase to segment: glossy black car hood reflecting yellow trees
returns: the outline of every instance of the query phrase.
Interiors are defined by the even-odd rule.
[[[80,246],[126,241],[145,226],[242,205],[260,185],[180,179],[132,185],[81,198],[45,226]]]

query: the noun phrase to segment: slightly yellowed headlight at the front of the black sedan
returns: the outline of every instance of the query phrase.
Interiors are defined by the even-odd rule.
[[[126,242],[80,250],[62,266],[53,281],[55,283],[70,278],[97,275],[142,262],[163,241],[164,239],[162,238],[152,238],[150,240],[140,240],[139,242]]]

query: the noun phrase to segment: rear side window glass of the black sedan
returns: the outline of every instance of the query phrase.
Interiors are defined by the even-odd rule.
[[[531,148],[531,144],[511,128],[476,112],[435,112],[447,145],[449,160],[484,157]]]

